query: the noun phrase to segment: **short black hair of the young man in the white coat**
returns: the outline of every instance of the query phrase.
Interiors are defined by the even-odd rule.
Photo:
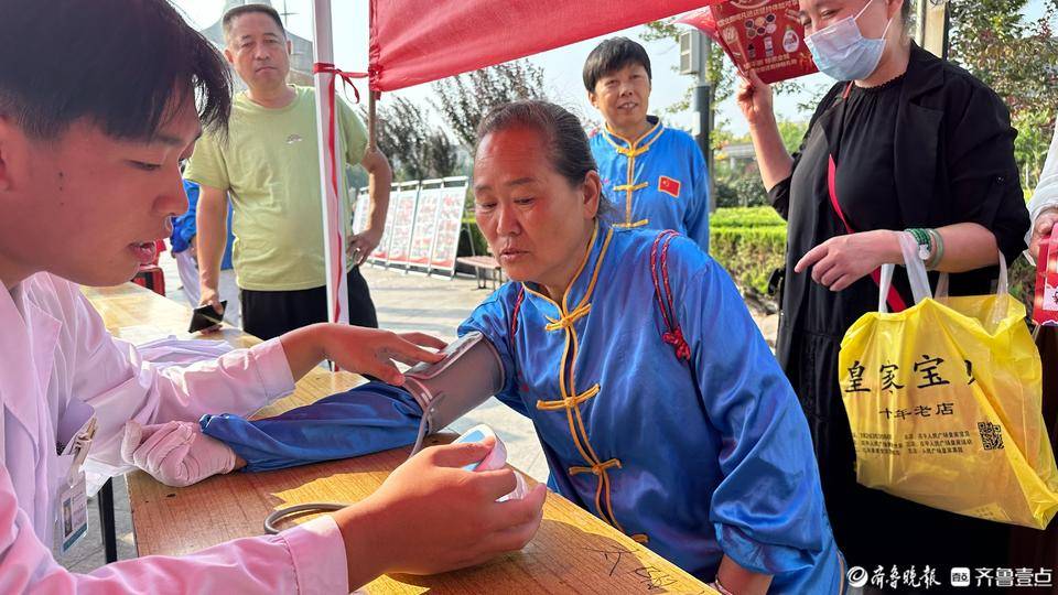
[[[3,0],[0,56],[0,118],[36,139],[86,119],[151,140],[184,97],[224,129],[231,108],[224,58],[166,0]]]

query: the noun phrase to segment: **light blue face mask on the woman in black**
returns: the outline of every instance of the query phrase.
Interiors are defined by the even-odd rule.
[[[838,80],[862,80],[878,67],[885,50],[885,34],[893,19],[885,23],[885,31],[879,39],[864,37],[856,19],[867,10],[871,2],[855,17],[846,17],[805,37],[805,45],[811,51],[819,72]]]

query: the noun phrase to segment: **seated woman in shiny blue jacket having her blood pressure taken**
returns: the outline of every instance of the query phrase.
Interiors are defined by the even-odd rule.
[[[564,109],[501,106],[479,139],[475,216],[512,282],[460,334],[499,351],[497,397],[532,420],[551,488],[721,593],[843,592],[808,425],[727,273],[672,231],[597,216],[595,163]],[[202,428],[247,468],[274,468],[407,444],[420,414],[370,383]]]

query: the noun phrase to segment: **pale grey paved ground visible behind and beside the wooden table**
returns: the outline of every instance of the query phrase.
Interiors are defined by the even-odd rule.
[[[161,264],[165,270],[169,298],[186,303],[173,259],[168,253],[162,255]],[[475,281],[469,278],[453,280],[429,278],[371,267],[365,267],[363,272],[371,288],[382,327],[393,331],[423,331],[446,340],[455,338],[455,329],[460,322],[489,294],[489,290],[478,290]],[[234,296],[225,298],[234,299]],[[765,337],[773,343],[776,318],[776,316],[768,316],[757,320]],[[477,423],[487,423],[496,430],[507,445],[512,465],[538,480],[547,478],[547,462],[532,424],[527,419],[500,404],[496,399],[490,399],[469,415],[454,423],[453,429],[463,431]],[[134,558],[132,522],[123,478],[115,480],[114,491],[118,555],[121,560]],[[95,499],[89,501],[88,518],[88,536],[65,555],[58,556],[60,562],[75,572],[90,572],[102,565],[105,561]]]

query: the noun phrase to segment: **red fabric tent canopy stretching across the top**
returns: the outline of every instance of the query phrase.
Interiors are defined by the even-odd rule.
[[[391,91],[720,0],[371,0],[370,86]]]

